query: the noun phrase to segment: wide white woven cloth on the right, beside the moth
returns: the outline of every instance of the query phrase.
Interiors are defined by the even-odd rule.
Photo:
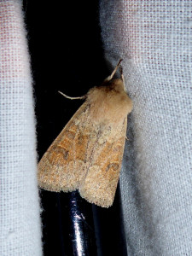
[[[120,177],[129,255],[192,255],[191,1],[101,1],[134,102]]]

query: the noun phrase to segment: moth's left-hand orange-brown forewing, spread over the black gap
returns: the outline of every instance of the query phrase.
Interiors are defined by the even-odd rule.
[[[38,185],[49,191],[73,191],[79,188],[84,172],[85,148],[89,136],[81,135],[79,120],[85,122],[87,102],[74,113],[38,163]]]

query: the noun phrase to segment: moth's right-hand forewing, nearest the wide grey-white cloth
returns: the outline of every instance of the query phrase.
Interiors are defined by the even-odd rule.
[[[119,181],[124,154],[127,119],[119,127],[108,125],[98,131],[97,142],[90,139],[90,163],[80,183],[80,195],[100,207],[110,207]],[[93,152],[94,148],[94,152]]]

